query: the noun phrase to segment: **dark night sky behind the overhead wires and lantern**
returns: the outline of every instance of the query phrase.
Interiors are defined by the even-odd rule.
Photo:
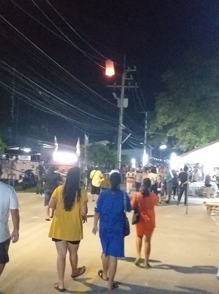
[[[31,0],[13,1],[48,28],[60,34]],[[84,43],[45,0],[34,1],[80,49],[100,59],[105,59]],[[153,111],[156,93],[162,89],[162,73],[185,51],[210,46],[218,42],[219,4],[217,1],[51,0],[50,3],[80,36],[102,55],[122,64],[123,56],[126,54],[126,64],[136,66],[137,73],[134,74],[134,81],[141,86],[137,90],[140,102],[135,92],[127,92],[130,106],[125,110],[129,116],[126,118],[125,124],[136,132],[135,136],[138,138],[133,139],[132,144],[133,142],[137,143],[144,135],[144,130],[138,128],[135,123],[141,127],[144,126],[144,116],[140,114],[140,111],[146,109],[145,104],[148,106],[148,110]],[[116,66],[117,75],[115,77],[106,78],[102,67],[96,65],[78,49],[54,36],[52,32],[31,19],[10,0],[1,0],[1,8],[1,15],[29,40],[84,84],[111,103],[115,103],[112,90],[106,88],[106,85],[114,81],[117,81],[117,84],[120,82],[121,66]],[[0,19],[0,26],[0,54],[4,62],[10,66],[15,64],[19,72],[43,86],[44,89],[52,93],[59,92],[60,90],[49,83],[51,81],[68,94],[66,101],[69,103],[77,107],[80,106],[92,114],[94,114],[91,110],[93,107],[96,111],[95,115],[103,119],[107,116],[107,120],[111,118],[113,121],[113,123],[104,122],[89,116],[86,119],[86,116],[75,112],[69,113],[69,109],[66,109],[65,115],[71,116],[71,118],[75,117],[77,121],[72,125],[61,117],[42,112],[37,109],[39,107],[30,106],[19,100],[19,133],[31,135],[32,130],[34,134],[34,131],[37,132],[36,127],[42,130],[43,125],[44,136],[53,138],[56,134],[62,141],[72,141],[72,138],[83,134],[78,130],[79,128],[86,133],[93,134],[90,135],[93,140],[109,139],[113,141],[117,134],[117,131],[113,129],[116,127],[114,122],[117,121],[118,114],[116,107],[75,82],[71,76],[60,70],[3,19]],[[103,61],[94,60],[102,66],[105,65]],[[11,86],[12,74],[6,73],[2,67],[0,67],[0,74],[1,81]],[[25,93],[26,96],[30,94],[27,90],[28,86],[22,84],[17,77],[16,83],[20,87],[20,92]],[[79,87],[80,92],[75,90],[75,87]],[[11,101],[10,93],[3,87],[0,89],[0,127],[5,130],[6,122],[8,124],[10,121]],[[31,89],[33,91],[33,88]],[[142,90],[144,98],[142,98],[140,90]],[[81,91],[86,91],[87,94],[85,95]],[[39,94],[39,88],[36,89],[36,93],[32,93],[35,101],[38,98],[42,99],[42,95],[46,95],[45,92]],[[76,102],[75,98],[79,102]],[[52,100],[49,99],[47,97],[47,106],[53,107],[53,110],[59,112],[60,108],[53,105]],[[87,125],[83,123],[87,123]],[[107,130],[105,123],[109,124],[112,129]],[[97,125],[102,126],[102,130],[97,129]]]

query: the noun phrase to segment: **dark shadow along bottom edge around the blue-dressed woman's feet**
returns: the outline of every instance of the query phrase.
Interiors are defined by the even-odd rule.
[[[85,291],[69,291],[67,290],[65,293],[75,293],[75,294],[83,294],[83,293],[106,293],[106,288],[94,284],[90,284],[87,281],[90,280],[89,278],[85,279],[78,279],[77,281],[88,287]],[[115,293],[150,293],[150,294],[211,294],[205,290],[196,289],[196,288],[187,288],[187,287],[177,287],[179,290],[168,290],[168,289],[158,289],[158,288],[151,288],[151,287],[144,287],[140,285],[132,285],[127,283],[118,283],[119,288],[114,290]],[[106,283],[107,286],[107,283]],[[190,291],[190,292],[188,292]]]

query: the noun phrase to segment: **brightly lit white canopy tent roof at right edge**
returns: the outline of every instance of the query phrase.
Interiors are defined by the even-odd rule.
[[[219,167],[219,139],[178,156],[178,161],[179,165],[199,163],[211,169]]]

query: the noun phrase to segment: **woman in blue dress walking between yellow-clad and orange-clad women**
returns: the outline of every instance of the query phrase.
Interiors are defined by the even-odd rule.
[[[118,287],[114,283],[117,269],[117,258],[124,257],[124,233],[125,233],[125,213],[131,211],[129,196],[125,191],[120,190],[121,175],[114,172],[110,176],[110,189],[104,190],[97,201],[94,215],[93,233],[98,231],[98,220],[100,219],[100,241],[102,245],[103,270],[99,270],[99,277],[108,281],[107,290],[114,290]],[[125,197],[124,197],[125,196]],[[108,277],[109,276],[109,277]]]

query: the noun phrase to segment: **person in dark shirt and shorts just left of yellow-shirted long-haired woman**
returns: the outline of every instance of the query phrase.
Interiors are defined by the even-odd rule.
[[[53,165],[49,168],[49,173],[44,176],[44,206],[46,208],[46,219],[45,220],[51,220],[54,215],[54,210],[52,209],[52,214],[50,217],[50,211],[49,211],[49,200],[52,196],[52,193],[54,190],[58,187],[58,184],[61,183],[61,177],[60,174],[55,172],[55,167]]]

